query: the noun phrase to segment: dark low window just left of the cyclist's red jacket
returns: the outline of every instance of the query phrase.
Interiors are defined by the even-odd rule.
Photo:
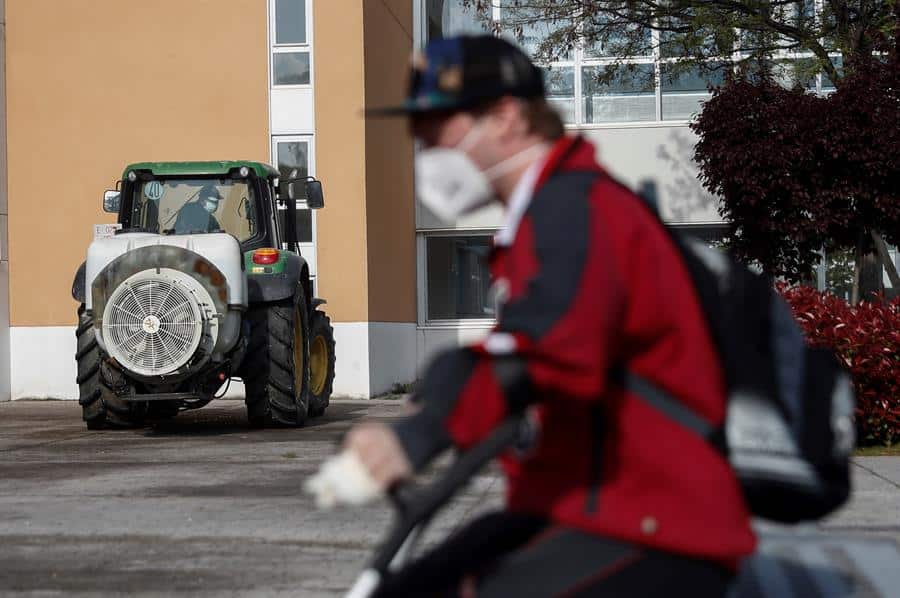
[[[429,320],[494,317],[488,269],[491,244],[486,235],[426,239]]]

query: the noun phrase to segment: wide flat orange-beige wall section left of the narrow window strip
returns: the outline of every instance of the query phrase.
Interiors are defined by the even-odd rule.
[[[268,159],[266,4],[227,4],[7,0],[13,326],[74,323],[72,278],[127,163]]]

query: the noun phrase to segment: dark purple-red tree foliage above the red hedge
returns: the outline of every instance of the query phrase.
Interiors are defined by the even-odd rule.
[[[691,125],[732,248],[792,281],[822,247],[900,242],[900,61],[860,64],[833,94],[737,77]]]

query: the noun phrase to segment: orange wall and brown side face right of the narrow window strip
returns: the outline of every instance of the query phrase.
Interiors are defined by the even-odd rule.
[[[412,145],[362,116],[402,97],[412,2],[316,0],[313,22],[319,294],[337,322],[415,322]]]

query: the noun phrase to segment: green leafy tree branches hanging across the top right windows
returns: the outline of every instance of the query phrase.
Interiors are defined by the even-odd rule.
[[[678,58],[679,67],[748,70],[783,53],[804,54],[808,77],[843,77],[842,59],[890,52],[900,36],[900,0],[462,0],[498,30],[544,27],[536,59],[550,62],[576,44],[602,48],[627,66],[629,57]],[[650,35],[651,31],[658,32]],[[614,69],[610,69],[611,71]],[[604,75],[601,74],[600,77]],[[606,76],[612,77],[613,74]]]

